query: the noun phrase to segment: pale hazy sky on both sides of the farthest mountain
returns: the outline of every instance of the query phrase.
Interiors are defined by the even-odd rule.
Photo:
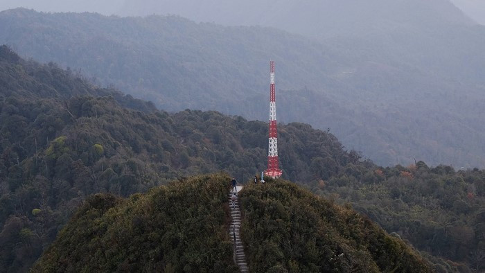
[[[143,3],[141,0],[140,2]],[[177,1],[177,0],[173,0]],[[203,1],[203,0],[201,0]],[[336,0],[342,1],[342,0]],[[426,1],[426,0],[423,0]],[[485,0],[451,0],[452,3],[469,16],[475,19],[479,24],[485,25]],[[150,1],[148,1],[150,2]],[[100,12],[105,15],[123,14],[125,0],[0,0],[0,10],[9,8],[33,8],[37,11],[61,12],[61,11],[90,11]]]

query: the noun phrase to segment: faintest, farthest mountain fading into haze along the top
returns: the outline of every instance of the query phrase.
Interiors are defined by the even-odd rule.
[[[443,24],[472,25],[448,0],[127,0],[117,14],[173,14],[230,26],[271,26],[324,38],[365,36],[383,30]]]

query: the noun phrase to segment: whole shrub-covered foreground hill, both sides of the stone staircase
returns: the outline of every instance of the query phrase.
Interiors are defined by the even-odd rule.
[[[89,197],[35,272],[237,272],[228,175]],[[250,272],[431,272],[402,240],[289,182],[240,191]]]

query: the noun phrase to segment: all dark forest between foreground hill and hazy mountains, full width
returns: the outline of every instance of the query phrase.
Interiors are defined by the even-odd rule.
[[[170,114],[0,47],[0,268],[26,271],[94,193],[127,197],[223,170],[245,182],[267,159],[267,123]],[[485,173],[381,168],[327,131],[279,126],[283,177],[350,202],[436,267],[485,268]],[[449,260],[449,261],[448,261]],[[444,270],[443,269],[443,270]]]

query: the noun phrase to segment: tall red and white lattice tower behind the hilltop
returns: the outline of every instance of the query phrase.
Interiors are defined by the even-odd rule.
[[[278,132],[276,130],[276,90],[274,88],[274,61],[270,61],[270,146],[265,175],[278,178],[283,173],[278,161]]]

